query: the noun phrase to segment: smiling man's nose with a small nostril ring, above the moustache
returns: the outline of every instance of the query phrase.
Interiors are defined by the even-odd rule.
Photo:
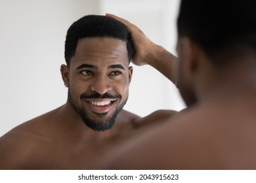
[[[93,84],[91,84],[91,90],[103,95],[104,93],[112,90],[112,84],[108,78],[100,76],[95,78]]]

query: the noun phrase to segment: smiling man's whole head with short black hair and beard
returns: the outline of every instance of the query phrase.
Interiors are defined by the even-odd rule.
[[[84,16],[68,29],[62,78],[68,103],[91,129],[110,129],[125,105],[132,54],[127,27],[112,18]]]

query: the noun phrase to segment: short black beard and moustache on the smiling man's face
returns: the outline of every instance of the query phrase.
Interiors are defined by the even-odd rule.
[[[81,95],[80,99],[84,99],[84,98],[120,98],[120,97],[119,95],[112,96],[107,93],[105,93],[104,95],[95,93],[94,95],[90,95],[90,96]],[[128,97],[125,99],[125,101],[123,101],[123,103],[121,103],[119,106],[116,107],[116,110],[114,111],[114,114],[112,114],[112,116],[106,119],[103,119],[103,117],[108,114],[108,112],[105,112],[102,114],[97,114],[100,118],[102,118],[102,120],[94,120],[92,118],[89,118],[83,106],[79,107],[77,103],[75,103],[75,100],[72,97],[70,90],[68,89],[68,102],[70,103],[71,107],[75,110],[75,112],[77,112],[77,114],[79,114],[79,116],[82,118],[85,125],[93,129],[94,131],[105,131],[105,130],[111,129],[116,122],[117,114],[119,114],[119,112],[125,106],[127,100],[128,100]]]

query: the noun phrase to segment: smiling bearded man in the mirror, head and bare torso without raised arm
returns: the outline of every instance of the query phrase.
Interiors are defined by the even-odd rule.
[[[121,22],[106,16],[74,22],[65,42],[67,65],[60,68],[68,101],[3,135],[0,169],[97,169],[109,150],[140,133],[149,119],[173,116],[174,111],[160,110],[140,118],[122,110],[132,54]]]

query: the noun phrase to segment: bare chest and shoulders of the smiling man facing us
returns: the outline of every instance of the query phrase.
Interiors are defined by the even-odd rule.
[[[134,128],[131,121],[138,118],[123,110],[112,129],[93,131],[83,122],[72,124],[76,114],[63,114],[65,107],[39,116],[1,137],[1,146],[5,147],[1,150],[1,168],[96,169],[110,148],[131,135]]]

